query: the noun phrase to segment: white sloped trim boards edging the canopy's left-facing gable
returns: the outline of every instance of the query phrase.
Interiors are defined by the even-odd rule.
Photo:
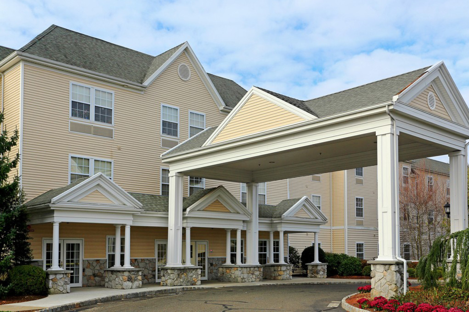
[[[260,97],[262,97],[262,98],[264,98],[264,99],[266,99],[266,100],[280,106],[281,108],[286,109],[286,110],[290,111],[291,113],[304,118],[305,120],[318,119],[317,116],[311,115],[310,113],[305,112],[303,109],[299,109],[299,108],[293,106],[292,104],[289,104],[289,103],[287,103],[283,100],[280,100],[278,97],[275,97],[272,94],[269,94],[265,91],[262,91],[262,90],[258,89],[257,87],[251,87],[249,89],[249,91],[246,94],[244,94],[244,96],[238,102],[238,104],[236,104],[234,109],[231,110],[231,112],[228,114],[228,116],[220,123],[217,130],[212,133],[212,135],[207,139],[207,141],[205,141],[205,143],[202,145],[202,147],[208,146],[212,143],[212,141],[219,135],[219,133],[221,131],[223,131],[223,129],[226,127],[226,125],[234,118],[234,116],[238,113],[238,111],[240,109],[242,109],[244,104],[246,104],[246,102],[250,99],[250,97],[253,94],[258,95],[258,96],[260,96]],[[269,129],[268,131],[272,131],[272,129]],[[242,136],[242,137],[239,137],[239,138],[244,138],[244,137],[247,137],[247,136]]]

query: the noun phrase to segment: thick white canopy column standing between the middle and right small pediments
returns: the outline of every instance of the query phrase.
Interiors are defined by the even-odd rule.
[[[259,184],[246,184],[246,208],[251,218],[246,222],[246,264],[259,264]]]

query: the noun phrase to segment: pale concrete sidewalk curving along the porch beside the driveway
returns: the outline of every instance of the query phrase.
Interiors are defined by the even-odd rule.
[[[140,289],[109,289],[105,287],[76,287],[68,294],[49,295],[45,298],[21,302],[9,305],[0,305],[0,311],[27,311],[40,310],[41,312],[56,312],[73,309],[84,305],[92,305],[99,302],[118,300],[124,298],[133,298],[141,296],[150,296],[159,293],[171,293],[184,290],[209,289],[219,287],[234,286],[254,286],[254,285],[285,285],[285,284],[366,284],[371,280],[362,279],[337,279],[337,278],[308,278],[293,277],[292,280],[275,281],[265,280],[253,283],[225,283],[218,281],[202,281],[198,286],[175,286],[166,287],[158,284],[144,284]]]

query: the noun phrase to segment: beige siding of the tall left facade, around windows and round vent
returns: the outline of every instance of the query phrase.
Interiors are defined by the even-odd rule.
[[[181,62],[191,69],[189,81],[177,75]],[[217,126],[226,117],[185,54],[144,94],[33,65],[24,68],[23,187],[28,199],[68,183],[69,154],[113,160],[113,181],[123,189],[160,194],[160,167],[167,167],[159,159],[167,150],[160,147],[161,103],[179,108],[180,142],[189,136],[189,110],[203,112],[207,127]],[[70,81],[114,92],[114,139],[68,131]],[[184,194],[187,184],[184,179]]]

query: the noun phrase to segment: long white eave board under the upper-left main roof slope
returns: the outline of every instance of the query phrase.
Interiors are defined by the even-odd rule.
[[[133,88],[133,89],[136,89],[136,90],[139,90],[139,91],[146,89],[146,86],[144,86],[142,84],[139,84],[139,83],[135,83],[133,81],[129,81],[129,80],[125,80],[125,79],[119,79],[119,78],[116,78],[116,77],[113,77],[113,76],[110,76],[110,75],[94,72],[94,71],[84,69],[84,68],[81,68],[81,67],[78,67],[78,66],[64,64],[64,63],[53,61],[53,60],[50,60],[50,59],[47,59],[47,58],[41,58],[41,57],[31,55],[31,54],[28,54],[28,53],[17,52],[17,56],[19,58],[21,58],[22,60],[25,60],[25,61],[29,61],[29,62],[32,62],[32,63],[37,63],[37,64],[40,64],[40,65],[46,65],[46,66],[50,66],[50,67],[53,67],[53,68],[58,68],[58,69],[61,69],[63,71],[66,71],[66,72],[82,74],[82,75],[87,76],[87,77],[92,77],[92,78],[95,78],[95,79],[115,83],[115,84],[118,84],[118,85],[121,85],[121,86],[130,87],[130,88]],[[1,68],[1,64],[0,64],[0,68]]]

